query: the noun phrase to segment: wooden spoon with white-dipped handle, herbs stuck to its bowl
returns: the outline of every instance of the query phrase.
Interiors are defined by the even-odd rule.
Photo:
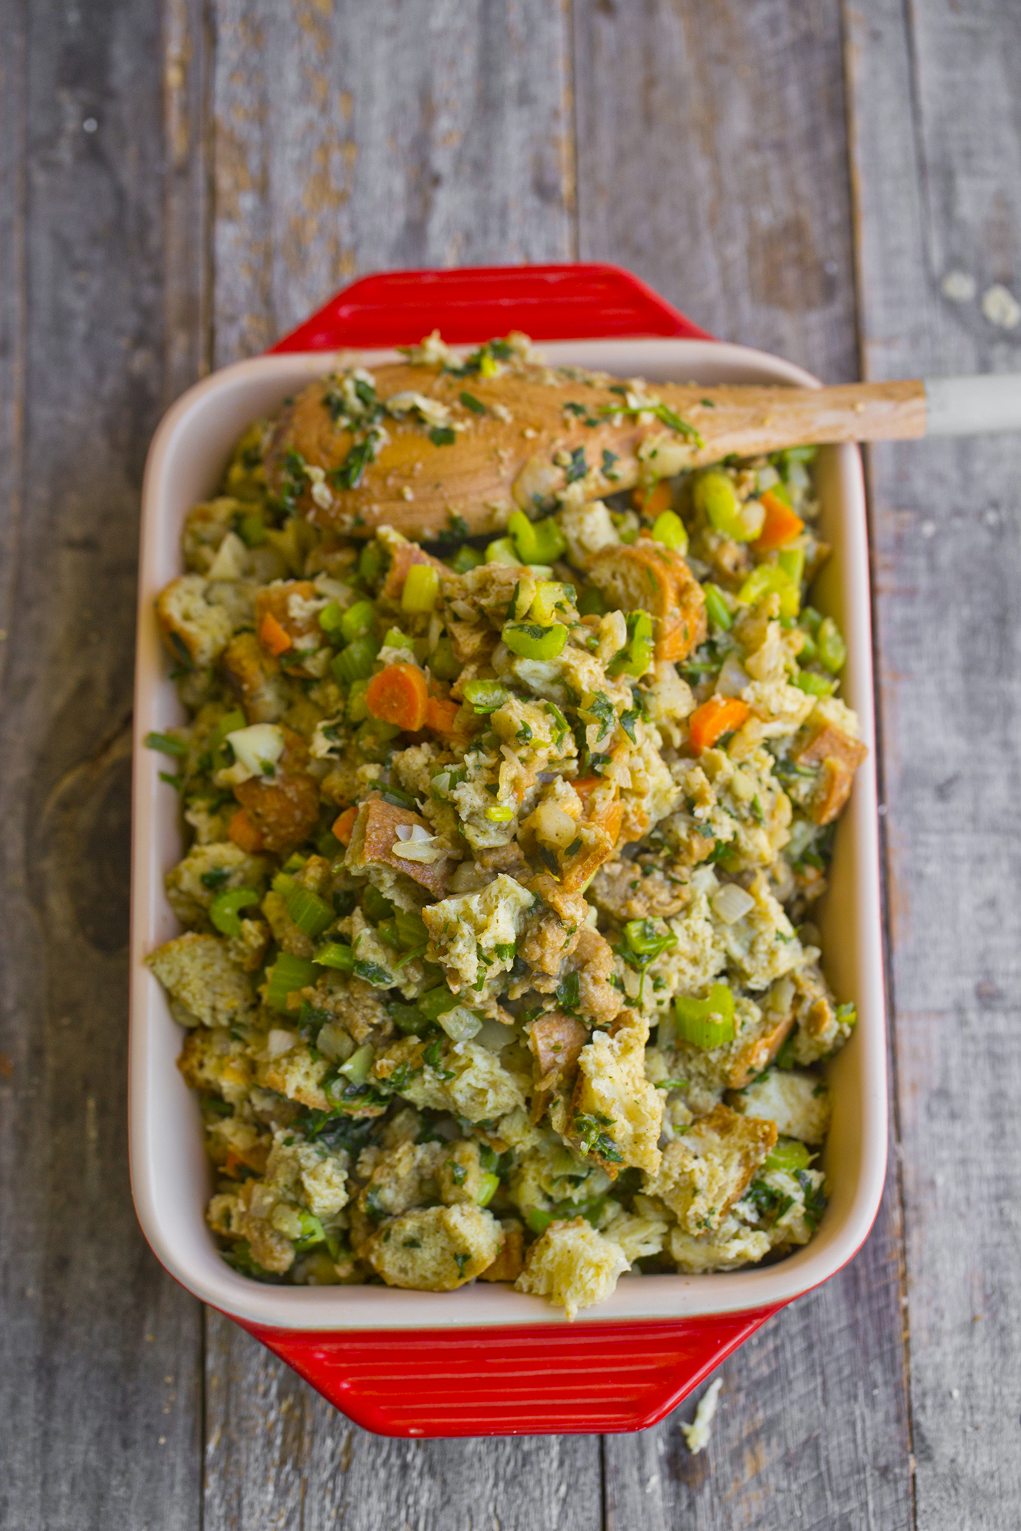
[[[421,540],[491,531],[514,508],[553,510],[571,484],[597,499],[730,453],[1021,427],[1021,378],[1004,375],[709,387],[514,361],[496,377],[412,363],[361,377],[393,401],[378,418],[375,458],[360,467],[366,424],[352,429],[338,375],[297,395],[266,455],[271,488],[317,525],[354,536],[380,525]]]

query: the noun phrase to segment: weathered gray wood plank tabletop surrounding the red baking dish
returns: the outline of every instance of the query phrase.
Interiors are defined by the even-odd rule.
[[[704,1454],[693,1399],[602,1444],[349,1425],[147,1251],[124,1027],[138,487],[165,403],[360,273],[572,256],[827,380],[859,346],[876,378],[1021,369],[1021,326],[981,308],[1021,285],[1013,8],[0,17],[0,1526],[1012,1523],[1015,441],[871,455],[899,1153],[857,1260],[726,1363]]]

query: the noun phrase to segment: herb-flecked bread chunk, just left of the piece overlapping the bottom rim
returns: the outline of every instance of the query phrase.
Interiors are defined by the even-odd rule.
[[[482,1206],[427,1206],[386,1223],[363,1257],[387,1286],[453,1292],[501,1252],[501,1226]]]

